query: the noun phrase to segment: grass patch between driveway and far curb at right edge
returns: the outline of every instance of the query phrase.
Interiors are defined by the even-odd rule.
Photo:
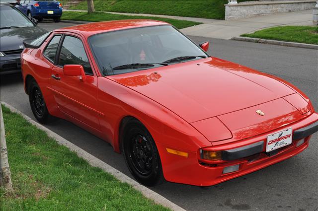
[[[241,36],[318,45],[318,26],[278,26]]]

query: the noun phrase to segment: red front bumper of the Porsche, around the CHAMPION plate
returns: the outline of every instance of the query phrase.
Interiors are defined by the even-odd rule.
[[[266,153],[266,138],[284,128],[293,128],[293,141],[290,145]],[[167,146],[158,144],[161,157],[163,175],[167,181],[185,183],[196,186],[215,185],[254,171],[265,168],[274,163],[288,159],[306,149],[309,145],[311,134],[318,131],[318,114],[313,113],[305,119],[284,126],[251,139],[235,141],[215,146],[216,150],[226,151],[225,158],[215,164],[201,163],[198,152],[189,152],[187,158],[165,151]],[[304,143],[297,146],[299,140],[305,138]],[[162,152],[165,153],[162,159]],[[223,154],[222,154],[223,155]],[[239,170],[223,173],[225,167],[239,165]]]

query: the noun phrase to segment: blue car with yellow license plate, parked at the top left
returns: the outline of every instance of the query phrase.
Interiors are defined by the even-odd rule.
[[[43,18],[52,18],[59,22],[62,16],[62,4],[56,0],[20,0],[16,5],[29,18],[41,21]]]

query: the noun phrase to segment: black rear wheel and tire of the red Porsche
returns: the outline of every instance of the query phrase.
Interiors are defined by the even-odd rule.
[[[30,81],[28,93],[31,110],[35,119],[42,124],[47,123],[51,120],[52,116],[46,107],[41,89],[34,79]]]

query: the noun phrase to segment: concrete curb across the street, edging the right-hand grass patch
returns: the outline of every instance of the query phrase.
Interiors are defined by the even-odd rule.
[[[314,44],[284,42],[284,41],[278,41],[278,40],[265,40],[265,39],[260,39],[260,38],[233,37],[233,38],[231,38],[231,40],[239,40],[239,41],[246,41],[246,42],[253,42],[253,43],[265,43],[265,44],[297,47],[297,48],[318,49],[318,45],[314,45]]]

